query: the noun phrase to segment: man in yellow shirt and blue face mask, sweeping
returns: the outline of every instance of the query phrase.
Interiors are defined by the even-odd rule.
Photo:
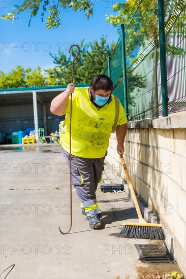
[[[113,83],[106,75],[97,75],[89,87],[75,88],[69,83],[66,91],[51,102],[51,112],[62,116],[61,145],[69,163],[71,152],[72,183],[81,201],[82,214],[86,215],[91,229],[101,229],[101,210],[96,190],[101,181],[109,138],[115,130],[117,152],[123,154],[127,131],[125,110],[112,94]],[[72,97],[72,115],[70,114]],[[71,150],[69,124],[72,122]]]

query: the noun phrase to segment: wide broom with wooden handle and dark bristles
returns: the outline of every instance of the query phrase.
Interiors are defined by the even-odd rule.
[[[123,159],[122,154],[119,154],[121,159],[121,164],[126,173],[126,180],[131,190],[131,195],[134,201],[134,205],[136,207],[137,215],[139,218],[139,223],[123,223],[122,229],[119,234],[120,237],[126,238],[143,238],[143,239],[165,239],[165,234],[161,224],[149,224],[147,223],[141,214],[140,207],[134,192],[134,188],[132,186],[131,179],[129,177],[129,172]]]

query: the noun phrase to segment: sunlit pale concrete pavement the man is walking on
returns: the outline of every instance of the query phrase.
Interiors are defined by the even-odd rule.
[[[60,146],[11,147],[1,150],[1,272],[15,264],[8,278],[135,279],[137,266],[148,267],[139,262],[139,240],[118,237],[123,221],[138,221],[125,192],[97,190],[104,229],[91,230],[73,187],[72,229],[61,235],[58,226],[70,224],[70,186]]]

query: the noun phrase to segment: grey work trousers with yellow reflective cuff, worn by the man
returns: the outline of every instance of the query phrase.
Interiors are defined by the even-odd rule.
[[[64,149],[63,151],[69,165],[69,153]],[[85,210],[86,207],[88,208],[88,212],[86,211],[87,215],[101,213],[100,208],[95,208],[95,205],[97,204],[96,190],[104,170],[104,159],[105,156],[98,159],[89,159],[71,155],[72,183],[74,184],[82,206]]]

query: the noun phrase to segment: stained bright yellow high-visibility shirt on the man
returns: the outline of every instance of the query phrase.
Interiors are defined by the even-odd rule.
[[[75,88],[72,94],[72,146],[71,154],[82,158],[102,158],[109,146],[109,138],[115,119],[115,99],[97,108],[91,102],[88,87]],[[70,152],[70,101],[66,107],[66,118],[61,127],[61,146]],[[119,102],[117,125],[127,123],[125,110]]]

